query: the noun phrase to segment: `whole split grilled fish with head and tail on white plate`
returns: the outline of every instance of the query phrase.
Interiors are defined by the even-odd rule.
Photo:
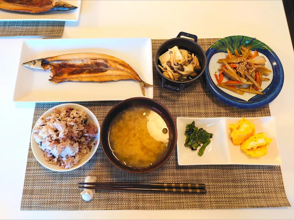
[[[31,60],[24,66],[48,70],[52,76],[50,82],[105,82],[133,79],[140,82],[145,95],[145,87],[151,87],[126,62],[101,53],[72,53],[56,57]]]

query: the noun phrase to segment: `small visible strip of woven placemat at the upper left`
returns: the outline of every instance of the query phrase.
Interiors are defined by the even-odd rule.
[[[0,21],[0,37],[61,36],[65,21]]]

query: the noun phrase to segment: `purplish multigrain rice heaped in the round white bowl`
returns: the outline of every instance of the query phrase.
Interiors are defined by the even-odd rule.
[[[83,110],[64,107],[53,109],[51,116],[41,118],[33,129],[34,139],[44,151],[45,160],[65,169],[77,165],[91,150],[97,127],[87,123]]]

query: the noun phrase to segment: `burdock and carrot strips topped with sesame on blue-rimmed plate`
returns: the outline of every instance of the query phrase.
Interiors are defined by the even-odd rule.
[[[244,93],[263,95],[261,92],[262,82],[270,81],[266,76],[270,75],[271,70],[265,67],[265,57],[258,54],[256,50],[251,53],[250,47],[241,47],[240,53],[237,50],[231,51],[227,48],[228,56],[225,59],[219,59],[217,63],[221,64],[214,74],[217,80],[217,86],[231,90],[240,95]],[[224,75],[228,81],[223,82]],[[237,88],[236,88],[237,86]]]

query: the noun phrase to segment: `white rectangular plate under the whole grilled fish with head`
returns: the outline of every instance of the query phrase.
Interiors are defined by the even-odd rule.
[[[48,70],[21,65],[40,58],[87,52],[117,57],[129,64],[144,82],[153,85],[150,38],[26,40],[21,50],[13,101],[107,101],[144,97],[140,83],[135,80],[54,84],[48,81]],[[146,88],[145,97],[153,98],[153,87]]]

